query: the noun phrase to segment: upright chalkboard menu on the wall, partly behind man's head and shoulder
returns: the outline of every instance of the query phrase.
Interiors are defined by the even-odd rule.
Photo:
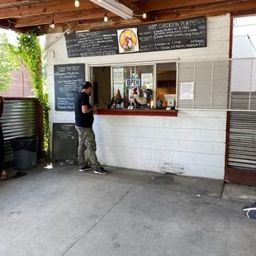
[[[74,98],[82,90],[84,64],[55,65],[55,110],[74,111]]]

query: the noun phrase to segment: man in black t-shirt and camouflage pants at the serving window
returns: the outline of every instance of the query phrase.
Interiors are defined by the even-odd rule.
[[[97,161],[96,141],[92,124],[94,121],[93,111],[97,111],[96,106],[91,106],[90,96],[92,95],[92,83],[83,83],[83,90],[79,92],[74,102],[75,127],[78,130],[78,165],[79,171],[84,172],[91,168],[94,173],[107,174],[102,165]],[[87,150],[88,157],[92,162],[92,167],[86,164],[84,153]]]

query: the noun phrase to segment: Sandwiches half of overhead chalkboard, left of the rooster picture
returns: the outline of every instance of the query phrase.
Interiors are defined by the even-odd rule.
[[[116,29],[65,34],[69,58],[117,55]]]

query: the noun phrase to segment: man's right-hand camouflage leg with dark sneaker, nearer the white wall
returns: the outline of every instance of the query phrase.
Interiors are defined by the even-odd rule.
[[[97,160],[96,141],[92,128],[88,129],[87,131],[85,145],[87,147],[88,157],[92,162],[92,168],[94,169],[94,173],[107,174],[107,171],[102,168],[102,165]]]

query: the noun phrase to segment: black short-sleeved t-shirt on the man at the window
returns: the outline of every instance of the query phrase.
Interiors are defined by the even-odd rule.
[[[82,112],[82,106],[92,107],[90,97],[85,92],[79,92],[74,100],[75,125],[78,127],[92,128],[94,121],[93,112]]]

